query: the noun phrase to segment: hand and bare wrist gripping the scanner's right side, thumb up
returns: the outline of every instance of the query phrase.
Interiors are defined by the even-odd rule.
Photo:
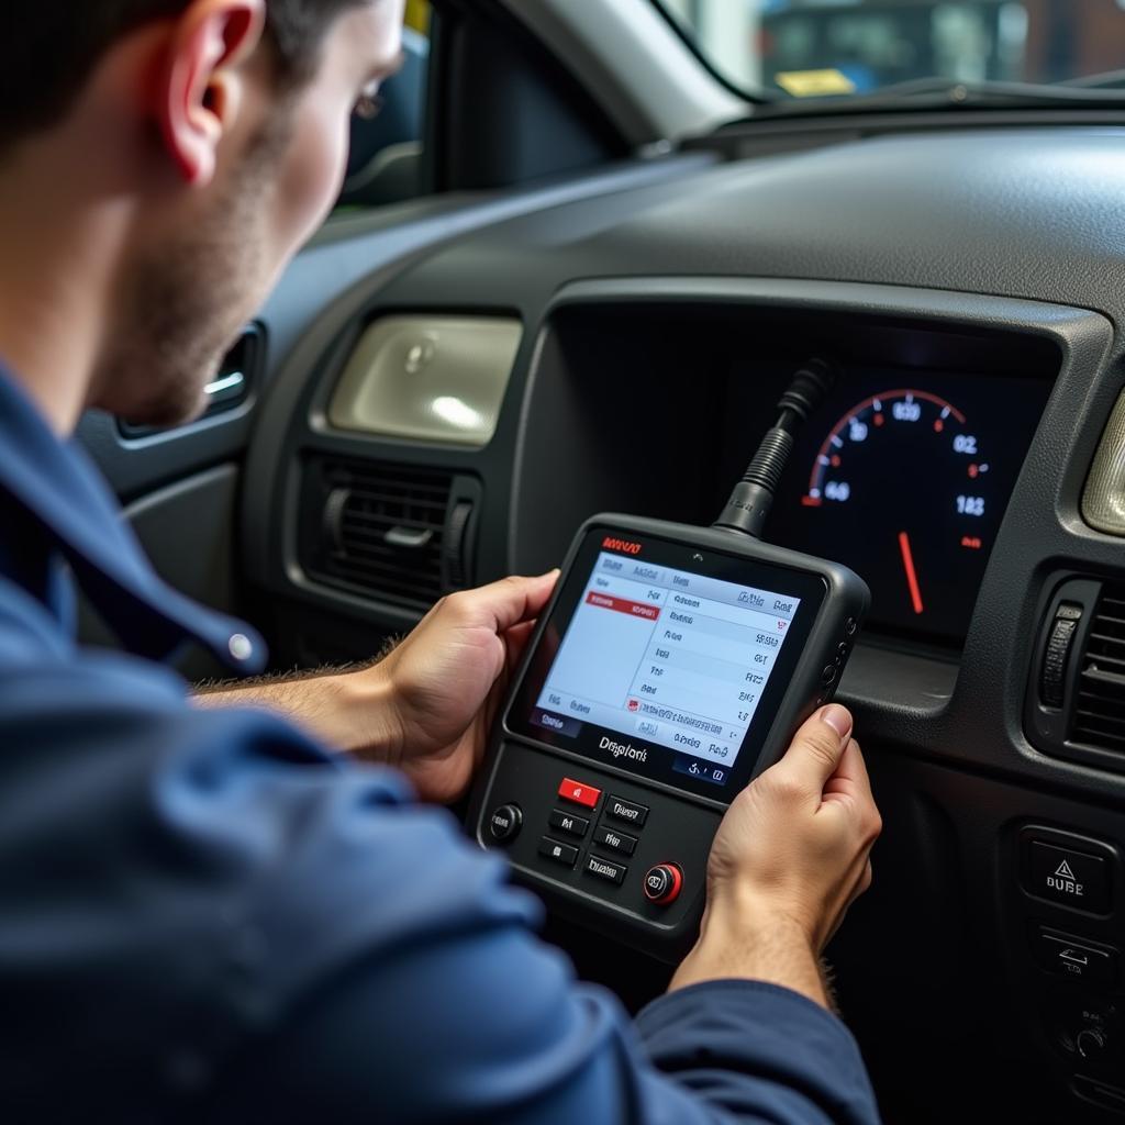
[[[850,735],[844,708],[822,708],[735,799],[711,849],[700,938],[672,988],[750,978],[828,1006],[819,957],[871,884],[882,829]]]

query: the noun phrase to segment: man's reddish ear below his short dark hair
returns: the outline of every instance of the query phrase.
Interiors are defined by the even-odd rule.
[[[177,17],[156,97],[169,155],[194,187],[215,174],[241,102],[237,68],[261,42],[266,0],[195,0]]]

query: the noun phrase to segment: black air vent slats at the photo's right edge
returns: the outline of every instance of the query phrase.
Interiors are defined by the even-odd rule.
[[[1071,741],[1125,757],[1125,587],[1106,585],[1082,652]]]

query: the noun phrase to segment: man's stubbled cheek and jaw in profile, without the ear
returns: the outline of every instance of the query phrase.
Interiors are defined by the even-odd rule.
[[[260,60],[214,181],[138,240],[92,405],[153,425],[199,413],[224,353],[339,195],[352,110],[398,55],[403,3],[345,9],[296,90],[279,93]]]

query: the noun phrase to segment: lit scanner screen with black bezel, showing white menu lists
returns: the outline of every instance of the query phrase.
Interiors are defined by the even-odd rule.
[[[510,728],[728,802],[754,773],[825,583],[624,536],[595,525],[584,537]]]

